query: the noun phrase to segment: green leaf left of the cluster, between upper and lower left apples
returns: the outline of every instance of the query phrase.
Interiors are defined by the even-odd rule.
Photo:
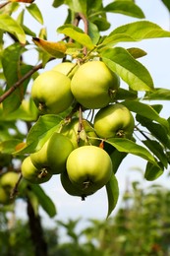
[[[63,119],[54,114],[40,116],[35,124],[30,128],[27,138],[27,147],[15,155],[25,155],[38,151],[42,148],[48,138],[56,131],[58,132]]]

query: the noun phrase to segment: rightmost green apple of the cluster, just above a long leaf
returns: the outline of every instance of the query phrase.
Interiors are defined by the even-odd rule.
[[[111,104],[101,108],[94,117],[94,130],[103,139],[132,138],[135,121],[123,104]]]

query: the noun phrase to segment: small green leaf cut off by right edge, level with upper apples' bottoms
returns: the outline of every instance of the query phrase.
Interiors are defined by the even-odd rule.
[[[155,88],[153,92],[147,92],[144,99],[148,100],[170,100],[170,90]]]

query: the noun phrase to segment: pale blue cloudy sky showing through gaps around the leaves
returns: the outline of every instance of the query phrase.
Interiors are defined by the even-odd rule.
[[[36,0],[36,4],[42,12],[44,17],[44,26],[47,28],[48,40],[58,40],[59,35],[56,32],[56,29],[59,26],[63,25],[67,15],[67,8],[60,7],[59,9],[51,8],[51,1],[41,1]],[[110,2],[110,1],[104,1]],[[149,0],[136,1],[137,4],[142,8],[142,11],[145,14],[145,20],[156,23],[164,30],[170,29],[170,18],[168,11],[162,5],[160,0]],[[118,26],[134,22],[136,19],[130,17],[124,17],[123,15],[114,15],[109,14],[108,19],[112,24],[110,29],[113,30]],[[29,16],[28,16],[28,25],[29,25]],[[34,22],[31,23],[33,31],[39,30],[41,26]],[[170,88],[170,38],[159,38],[159,39],[150,39],[144,40],[142,42],[127,44],[127,47],[138,46],[147,52],[147,55],[144,56],[140,61],[150,72],[155,87]],[[126,45],[124,44],[126,47]],[[29,55],[28,61],[31,61],[31,58],[34,58],[33,51],[32,56]],[[58,61],[57,61],[58,62]],[[46,66],[46,69],[50,69],[50,63]],[[169,116],[169,107],[167,102],[164,102],[165,108],[162,111],[162,116]],[[141,178],[141,174],[138,171],[132,170],[132,168],[142,168],[145,167],[145,160],[141,160],[138,157],[129,156],[121,164],[118,173],[116,174],[120,186],[120,194],[122,195],[125,187],[128,182]],[[160,177],[157,182],[167,184],[166,175]],[[144,184],[148,184],[145,182]],[[105,193],[105,188],[98,191],[96,194],[88,197],[85,202],[82,202],[80,198],[71,197],[63,190],[61,187],[59,176],[54,176],[49,182],[42,185],[46,193],[53,199],[58,209],[58,220],[67,220],[67,219],[77,219],[82,217],[83,219],[87,218],[99,218],[104,219],[107,214],[107,197]],[[120,200],[119,200],[120,203]],[[19,202],[19,209],[25,207]],[[43,213],[42,213],[43,214]],[[114,215],[114,213],[112,214]],[[51,221],[43,214],[46,224],[50,224]]]

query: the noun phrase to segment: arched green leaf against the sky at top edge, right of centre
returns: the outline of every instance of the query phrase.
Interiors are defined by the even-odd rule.
[[[134,2],[129,1],[114,1],[113,3],[108,4],[104,10],[109,13],[120,13],[136,18],[144,18],[142,9]]]

